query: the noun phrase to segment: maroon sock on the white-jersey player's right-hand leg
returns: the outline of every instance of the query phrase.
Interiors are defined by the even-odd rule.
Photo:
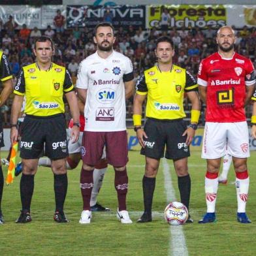
[[[118,192],[118,209],[126,210],[126,195],[128,190],[128,176],[126,168],[123,171],[115,170],[115,188]]]

